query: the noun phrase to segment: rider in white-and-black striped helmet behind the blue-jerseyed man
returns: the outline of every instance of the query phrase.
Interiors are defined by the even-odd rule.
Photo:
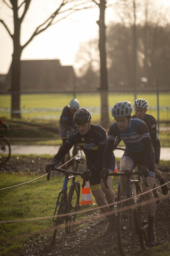
[[[149,135],[155,151],[155,177],[159,180],[160,185],[163,185],[166,183],[166,180],[163,178],[162,173],[158,170],[160,159],[160,141],[157,133],[156,119],[153,116],[146,114],[148,110],[148,102],[145,99],[135,100],[133,106],[135,109],[135,115],[133,115],[131,118],[139,118],[143,120],[148,126]],[[168,193],[167,185],[164,185],[161,188],[163,195],[166,195]],[[158,196],[156,190],[154,190],[154,196]]]

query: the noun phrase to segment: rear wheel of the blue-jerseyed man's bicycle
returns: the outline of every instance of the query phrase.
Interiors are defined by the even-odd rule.
[[[137,195],[140,194],[140,191],[137,191]],[[139,240],[141,249],[145,250],[147,247],[147,230],[148,230],[148,214],[145,208],[145,199],[143,195],[137,197],[138,200],[138,225],[139,225]]]

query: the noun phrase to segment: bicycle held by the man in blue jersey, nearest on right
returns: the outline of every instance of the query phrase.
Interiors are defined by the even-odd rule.
[[[147,246],[148,216],[145,210],[145,199],[140,188],[140,166],[138,171],[109,173],[109,176],[126,175],[126,193],[117,202],[117,240],[121,256],[133,256],[136,234],[139,236],[141,249]],[[138,175],[138,179],[132,179]],[[143,182],[148,183],[142,175]],[[106,180],[105,186],[107,188]]]

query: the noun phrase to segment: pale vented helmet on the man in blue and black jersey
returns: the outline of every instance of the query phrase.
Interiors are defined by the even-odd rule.
[[[129,101],[119,101],[112,108],[113,117],[130,116],[132,113],[132,106]]]

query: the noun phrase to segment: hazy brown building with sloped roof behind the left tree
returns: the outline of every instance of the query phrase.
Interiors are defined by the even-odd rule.
[[[60,60],[21,60],[21,91],[73,91],[76,76],[72,66]],[[11,87],[11,67],[6,75],[6,89]]]

